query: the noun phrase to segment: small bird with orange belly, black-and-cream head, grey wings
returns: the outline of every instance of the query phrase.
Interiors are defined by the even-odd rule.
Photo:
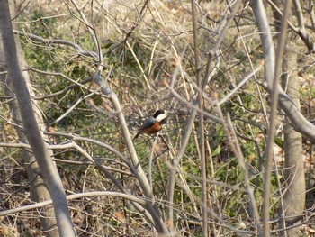
[[[139,134],[146,133],[148,135],[156,134],[162,129],[162,125],[167,122],[167,111],[164,109],[157,110],[153,116],[142,123],[139,132],[134,136],[133,140],[139,137]]]

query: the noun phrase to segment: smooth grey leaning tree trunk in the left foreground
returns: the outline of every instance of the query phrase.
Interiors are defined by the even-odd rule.
[[[60,236],[75,236],[58,170],[50,159],[49,151],[41,137],[38,122],[31,105],[31,96],[14,41],[9,4],[5,0],[0,1],[0,32],[4,46],[4,65],[8,71],[8,79],[11,80],[10,84],[12,83],[11,89],[14,92],[21,114],[23,124],[23,131],[21,132],[25,134],[27,141],[31,145],[32,153],[39,164],[39,167],[37,167],[40,168],[37,170],[38,174],[45,179],[49,187]],[[40,186],[43,186],[42,182]]]

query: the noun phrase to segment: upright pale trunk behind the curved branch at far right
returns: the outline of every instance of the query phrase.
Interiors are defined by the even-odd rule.
[[[284,71],[286,73],[283,75],[283,83],[287,88],[288,96],[292,98],[293,103],[300,109],[300,86],[296,70],[297,54],[296,51],[291,49],[296,49],[296,47],[289,45],[286,49],[286,58],[284,59]],[[304,164],[302,159],[302,134],[296,132],[290,123],[290,120],[286,117],[284,125],[284,179],[286,188],[283,199],[283,215],[285,218],[303,214],[306,193]],[[293,224],[293,218],[286,219],[286,223]],[[299,227],[287,230],[287,236],[300,235]]]

